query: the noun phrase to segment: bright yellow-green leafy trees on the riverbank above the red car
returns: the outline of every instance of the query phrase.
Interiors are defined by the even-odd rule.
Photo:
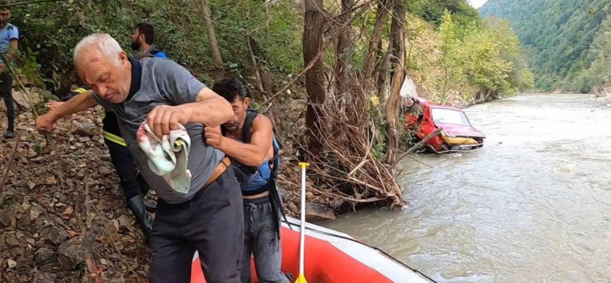
[[[506,21],[488,19],[484,25],[460,26],[449,12],[439,26],[441,67],[438,81],[442,99],[449,88],[478,86],[494,93],[515,93],[532,87],[533,75],[525,64],[520,41]],[[463,30],[462,37],[456,30]]]

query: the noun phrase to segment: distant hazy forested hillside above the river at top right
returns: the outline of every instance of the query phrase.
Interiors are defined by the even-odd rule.
[[[608,0],[489,0],[482,16],[508,19],[530,55],[535,85],[547,91],[588,91],[581,76],[588,50],[608,13]]]

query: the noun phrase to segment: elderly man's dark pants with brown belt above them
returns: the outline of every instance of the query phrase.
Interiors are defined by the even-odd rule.
[[[151,237],[151,283],[190,283],[195,250],[208,283],[240,283],[244,240],[240,185],[227,170],[192,200],[157,203]]]

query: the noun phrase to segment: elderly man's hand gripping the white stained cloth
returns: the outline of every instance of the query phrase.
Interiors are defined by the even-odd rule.
[[[170,105],[157,105],[146,117],[153,133],[161,139],[170,130],[178,129],[178,124],[187,125],[191,117],[190,108]]]

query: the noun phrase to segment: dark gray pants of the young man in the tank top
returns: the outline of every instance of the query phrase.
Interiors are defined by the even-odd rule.
[[[291,283],[280,271],[282,246],[277,225],[280,212],[269,197],[244,200],[244,251],[240,260],[242,283],[250,283],[250,257],[255,257],[255,270],[261,283]]]

